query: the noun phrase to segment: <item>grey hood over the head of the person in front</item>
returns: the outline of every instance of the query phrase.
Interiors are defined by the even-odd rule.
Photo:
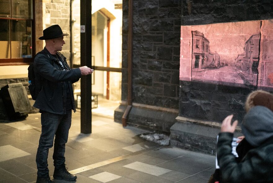
[[[273,112],[261,105],[251,108],[243,119],[242,132],[251,145],[261,145],[273,136]]]

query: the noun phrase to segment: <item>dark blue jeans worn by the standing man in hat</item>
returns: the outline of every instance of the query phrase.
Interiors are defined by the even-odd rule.
[[[42,133],[36,154],[38,177],[49,176],[47,157],[49,148],[53,146],[54,136],[54,166],[58,167],[65,163],[65,143],[71,126],[71,114],[71,110],[66,111],[66,114],[48,112],[41,114]]]

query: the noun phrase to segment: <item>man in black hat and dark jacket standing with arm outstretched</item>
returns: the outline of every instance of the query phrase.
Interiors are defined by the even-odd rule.
[[[43,30],[40,40],[45,40],[46,46],[36,54],[34,59],[35,79],[42,84],[34,107],[41,113],[42,133],[36,155],[36,183],[51,183],[47,164],[48,150],[53,146],[55,170],[54,179],[75,181],[77,176],[70,174],[65,167],[65,144],[71,126],[71,113],[74,112],[74,94],[72,83],[77,82],[82,75],[92,74],[92,69],[83,66],[70,69],[65,56],[59,51],[65,44],[62,29],[52,25]]]

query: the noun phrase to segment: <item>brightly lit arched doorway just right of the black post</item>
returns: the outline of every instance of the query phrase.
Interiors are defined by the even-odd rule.
[[[112,117],[121,100],[121,44],[117,47],[111,38],[112,35],[121,39],[121,33],[113,24],[107,11],[92,14],[92,67],[95,70],[92,96],[97,97],[97,107],[92,108],[92,114]],[[120,52],[120,56],[114,57],[112,52]]]

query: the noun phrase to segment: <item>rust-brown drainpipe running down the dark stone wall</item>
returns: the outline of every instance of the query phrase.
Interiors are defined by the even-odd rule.
[[[128,0],[128,96],[127,108],[122,116],[122,126],[127,126],[127,117],[132,109],[132,33],[133,33],[133,0]]]

